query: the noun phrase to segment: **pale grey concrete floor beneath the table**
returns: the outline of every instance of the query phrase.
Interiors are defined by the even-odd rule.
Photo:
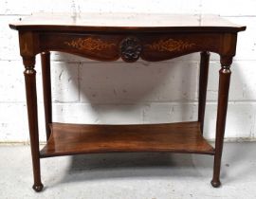
[[[0,145],[0,198],[256,198],[256,143],[226,143],[222,187],[210,186],[212,156],[87,154],[42,159],[45,190],[31,189],[29,146]]]

